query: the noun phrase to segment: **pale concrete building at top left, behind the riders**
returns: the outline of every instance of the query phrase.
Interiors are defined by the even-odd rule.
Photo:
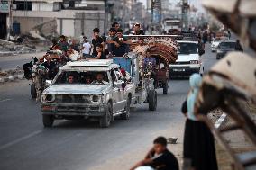
[[[56,20],[57,33],[78,37],[82,32],[92,36],[95,27],[104,31],[104,0],[15,0],[14,23],[20,24],[21,33],[35,26]]]

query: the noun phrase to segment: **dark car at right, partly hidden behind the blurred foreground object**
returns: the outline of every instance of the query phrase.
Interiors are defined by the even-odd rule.
[[[224,58],[224,56],[228,52],[235,50],[234,47],[235,47],[235,41],[233,40],[222,41],[217,48],[216,59]]]

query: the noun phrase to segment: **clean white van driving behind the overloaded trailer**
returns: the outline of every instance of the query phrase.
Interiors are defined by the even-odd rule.
[[[179,40],[178,59],[169,65],[169,76],[190,76],[193,73],[204,73],[204,63],[197,41]],[[200,53],[200,54],[199,54]]]

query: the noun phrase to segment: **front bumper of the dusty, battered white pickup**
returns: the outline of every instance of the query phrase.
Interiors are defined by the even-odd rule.
[[[81,104],[81,103],[43,103],[42,114],[56,116],[103,116],[106,104]]]

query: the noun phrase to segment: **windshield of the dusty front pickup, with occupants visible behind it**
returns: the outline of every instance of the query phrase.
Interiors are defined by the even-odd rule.
[[[107,72],[61,71],[54,84],[109,85]]]

